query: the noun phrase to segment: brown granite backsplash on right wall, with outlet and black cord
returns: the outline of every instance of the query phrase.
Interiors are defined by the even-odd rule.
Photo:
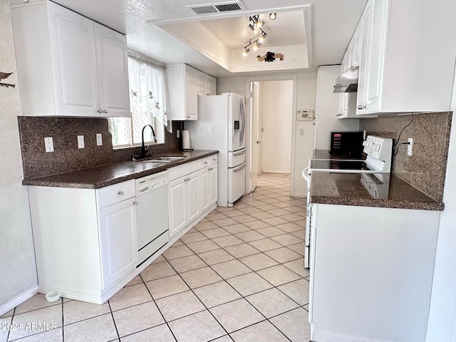
[[[362,119],[360,130],[393,138],[396,143],[400,131],[411,121],[400,135],[399,143],[413,138],[413,155],[407,155],[407,145],[398,146],[392,172],[426,195],[442,201],[451,117],[451,112],[442,112],[413,114],[413,121],[412,115]]]

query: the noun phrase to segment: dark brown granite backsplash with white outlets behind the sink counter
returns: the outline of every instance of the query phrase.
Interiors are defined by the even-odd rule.
[[[130,160],[131,155],[140,153],[140,147],[113,150],[105,118],[19,116],[18,123],[25,179]],[[173,133],[165,133],[165,143],[150,146],[152,155],[179,150],[178,129],[180,124],[173,123]],[[96,145],[96,133],[103,135],[101,146]],[[78,135],[84,135],[83,149],[78,149]],[[45,152],[46,137],[53,138],[54,152]]]

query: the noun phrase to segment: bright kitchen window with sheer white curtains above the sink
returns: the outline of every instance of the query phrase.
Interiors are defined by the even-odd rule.
[[[109,118],[113,147],[131,147],[141,144],[141,131],[150,124],[155,130],[157,144],[165,142],[165,128],[172,132],[167,104],[165,67],[138,53],[128,53],[128,79],[131,118]],[[147,145],[155,144],[152,130],[144,131]]]

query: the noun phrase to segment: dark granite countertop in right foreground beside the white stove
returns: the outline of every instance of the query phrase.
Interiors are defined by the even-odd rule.
[[[375,175],[314,171],[311,202],[360,207],[444,209],[443,202],[435,201],[393,174]]]

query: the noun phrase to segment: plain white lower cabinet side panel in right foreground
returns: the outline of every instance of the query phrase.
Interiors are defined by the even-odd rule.
[[[311,340],[425,342],[440,212],[312,206]]]

